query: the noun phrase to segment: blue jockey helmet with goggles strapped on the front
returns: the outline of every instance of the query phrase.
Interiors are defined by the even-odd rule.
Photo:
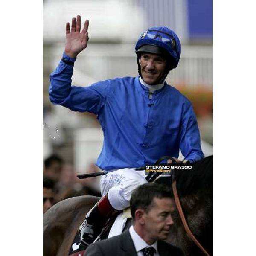
[[[181,46],[178,36],[171,29],[162,26],[147,29],[140,36],[135,46],[135,52],[139,56],[142,52],[163,55],[168,63],[168,73],[171,69],[177,67],[180,60],[180,51]]]

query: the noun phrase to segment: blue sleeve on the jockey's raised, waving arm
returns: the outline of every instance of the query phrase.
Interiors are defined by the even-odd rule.
[[[67,61],[74,61],[63,55]],[[88,87],[71,86],[73,66],[60,61],[50,75],[49,98],[54,105],[61,105],[73,111],[99,114],[108,95],[109,80],[97,82]]]

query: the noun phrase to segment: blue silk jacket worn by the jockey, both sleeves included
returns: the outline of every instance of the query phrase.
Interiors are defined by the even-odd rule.
[[[192,104],[174,87],[165,83],[149,99],[139,76],[76,87],[72,75],[73,66],[60,61],[50,76],[49,97],[55,105],[97,115],[104,133],[96,162],[101,169],[140,167],[164,155],[178,157],[179,149],[190,162],[204,157]]]

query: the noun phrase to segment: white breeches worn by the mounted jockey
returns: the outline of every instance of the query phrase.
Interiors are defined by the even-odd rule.
[[[108,193],[108,201],[116,210],[130,206],[131,193],[138,186],[148,183],[145,171],[124,168],[103,175],[100,180],[102,196]]]

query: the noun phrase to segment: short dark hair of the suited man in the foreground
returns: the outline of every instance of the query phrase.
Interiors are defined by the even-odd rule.
[[[137,187],[132,192],[130,201],[132,218],[135,217],[137,209],[148,212],[153,207],[154,198],[172,198],[171,190],[167,186],[157,183],[146,183]]]

